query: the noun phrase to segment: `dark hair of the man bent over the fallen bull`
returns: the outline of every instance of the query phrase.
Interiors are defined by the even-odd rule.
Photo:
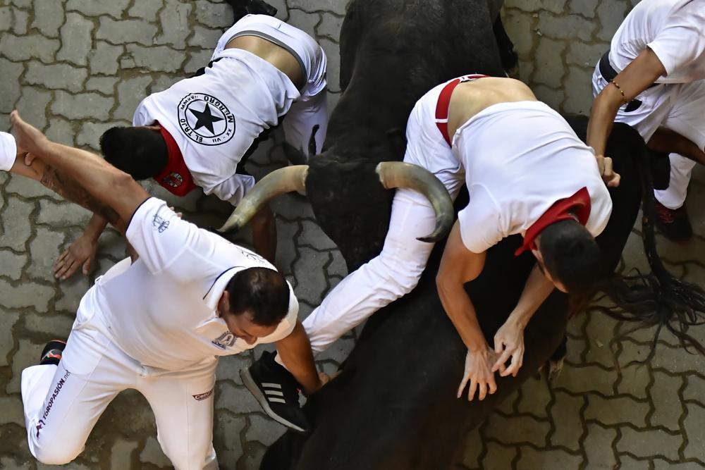
[[[551,223],[540,236],[541,256],[551,277],[571,294],[591,290],[600,276],[601,252],[587,229],[571,219]]]

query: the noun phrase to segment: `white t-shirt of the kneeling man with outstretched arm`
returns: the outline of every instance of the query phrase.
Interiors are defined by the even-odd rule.
[[[145,366],[176,371],[216,356],[238,354],[291,333],[298,302],[289,285],[289,311],[271,335],[248,345],[216,313],[238,271],[275,269],[258,254],[183,221],[156,198],[135,211],[127,238],[140,255],[98,278],[81,299],[116,345]]]

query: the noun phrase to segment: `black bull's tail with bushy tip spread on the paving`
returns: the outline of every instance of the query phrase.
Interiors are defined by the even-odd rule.
[[[645,151],[645,153],[648,150]],[[687,333],[691,326],[705,323],[705,291],[698,285],[673,276],[656,251],[654,235],[654,180],[649,155],[637,157],[637,167],[642,180],[642,241],[651,272],[637,271],[632,276],[614,276],[601,285],[601,290],[612,299],[616,307],[606,309],[615,319],[637,321],[641,326],[657,326],[651,354],[663,328],[675,335],[689,352],[696,350],[705,355],[705,347]]]

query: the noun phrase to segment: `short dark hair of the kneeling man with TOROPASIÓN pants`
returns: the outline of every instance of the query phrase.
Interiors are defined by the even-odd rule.
[[[275,326],[289,311],[289,285],[278,271],[269,268],[243,269],[228,283],[230,311],[252,314],[259,326]]]

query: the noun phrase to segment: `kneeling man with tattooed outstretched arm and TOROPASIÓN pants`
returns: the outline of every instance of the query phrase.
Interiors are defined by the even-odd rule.
[[[39,461],[74,459],[109,402],[134,388],[152,407],[159,443],[176,469],[217,469],[217,357],[257,344],[288,344],[282,354],[293,361],[298,383],[307,392],[320,387],[298,302],[274,266],[182,221],[98,156],[49,141],[17,111],[11,120],[18,147],[111,207],[139,255],[97,279],[68,342],[50,342],[40,364],[23,371],[27,440]],[[288,357],[290,348],[297,357]],[[279,416],[307,431],[305,416]]]

